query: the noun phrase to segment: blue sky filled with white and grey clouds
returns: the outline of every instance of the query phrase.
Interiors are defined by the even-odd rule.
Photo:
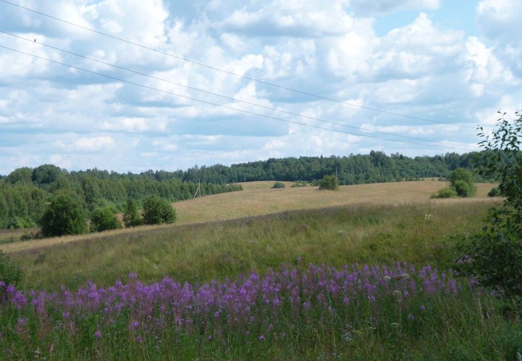
[[[0,174],[466,153],[522,109],[519,0],[9,2],[129,42],[0,1]]]

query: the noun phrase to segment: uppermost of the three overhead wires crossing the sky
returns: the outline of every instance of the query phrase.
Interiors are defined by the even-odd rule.
[[[74,22],[71,22],[71,21],[67,21],[67,20],[64,20],[64,19],[52,16],[52,15],[49,15],[49,14],[42,13],[41,11],[38,11],[38,10],[34,10],[34,9],[31,9],[31,8],[28,8],[28,7],[25,7],[25,6],[22,6],[22,5],[11,3],[11,2],[9,2],[7,0],[0,0],[0,1],[3,2],[3,3],[9,4],[9,5],[13,5],[13,6],[19,7],[21,9],[25,9],[25,10],[31,11],[32,13],[35,13],[35,14],[39,14],[39,15],[46,16],[46,17],[54,19],[54,20],[65,22],[66,24],[73,25],[73,26],[76,26],[76,27],[81,28],[81,29],[92,31],[92,32],[98,33],[100,35],[103,35],[103,36],[106,36],[106,37],[109,37],[109,38],[112,38],[112,39],[115,39],[115,40],[123,41],[123,42],[131,44],[131,45],[139,46],[140,48],[143,48],[143,49],[147,49],[147,50],[154,51],[154,52],[157,52],[157,53],[160,53],[160,54],[163,54],[163,55],[171,56],[171,57],[173,57],[175,59],[179,59],[179,60],[182,60],[182,61],[185,61],[185,62],[189,62],[189,63],[196,64],[196,65],[199,65],[199,66],[203,66],[203,67],[206,67],[206,68],[209,68],[209,69],[213,69],[213,70],[218,71],[218,72],[222,72],[222,73],[226,73],[226,74],[229,74],[229,75],[241,77],[241,78],[244,78],[244,79],[256,81],[257,83],[260,83],[260,84],[265,84],[265,85],[276,87],[276,88],[279,88],[279,89],[284,89],[284,90],[296,92],[298,94],[314,97],[314,98],[317,98],[317,99],[323,99],[323,100],[333,101],[333,102],[336,102],[336,103],[346,104],[346,105],[351,106],[351,107],[357,107],[357,108],[366,109],[366,110],[372,110],[372,111],[381,112],[381,113],[385,113],[385,114],[396,115],[397,117],[404,117],[404,118],[409,118],[409,119],[422,120],[422,121],[426,121],[426,122],[440,123],[440,124],[447,124],[447,125],[455,125],[455,126],[461,126],[461,127],[467,127],[467,128],[471,128],[471,129],[476,129],[476,126],[465,125],[465,124],[457,124],[457,123],[451,123],[451,122],[443,122],[443,121],[427,119],[427,118],[421,118],[421,117],[414,117],[413,115],[401,114],[401,113],[391,112],[391,111],[387,111],[387,110],[361,106],[359,104],[349,103],[349,102],[346,102],[346,101],[342,101],[342,100],[338,100],[338,99],[334,99],[334,98],[329,98],[329,97],[325,97],[325,96],[321,96],[321,95],[316,95],[316,94],[312,94],[310,92],[306,92],[306,91],[302,91],[302,90],[298,90],[298,89],[293,89],[293,88],[290,88],[290,87],[285,87],[285,86],[274,84],[274,83],[269,83],[269,82],[264,81],[264,80],[259,80],[259,79],[256,79],[256,78],[248,77],[246,75],[241,75],[241,74],[237,74],[237,73],[234,73],[234,72],[230,72],[228,70],[221,69],[221,68],[218,68],[216,66],[212,66],[212,65],[205,64],[205,63],[201,63],[201,62],[197,62],[197,61],[194,61],[194,60],[190,60],[190,59],[187,59],[187,58],[185,58],[183,56],[179,56],[179,55],[167,53],[167,52],[164,52],[164,51],[161,51],[161,50],[158,50],[158,49],[150,48],[150,46],[142,45],[142,44],[130,41],[130,40],[126,40],[126,39],[123,39],[123,38],[118,38],[116,36],[104,33],[104,32],[99,31],[99,30],[94,30],[94,29],[91,29],[91,28],[88,28],[88,27],[85,27],[85,26],[82,26],[82,25],[79,25],[79,24],[75,24]],[[484,129],[486,129],[486,128],[484,128]]]

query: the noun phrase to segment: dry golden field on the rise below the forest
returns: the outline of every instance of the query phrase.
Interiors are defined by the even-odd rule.
[[[459,204],[494,200],[487,196],[493,184],[477,184],[478,192],[469,199],[431,200],[430,195],[444,187],[444,182],[416,181],[345,185],[338,191],[319,191],[317,187],[290,188],[291,182],[283,182],[287,188],[271,189],[274,181],[241,183],[243,191],[215,194],[195,200],[173,203],[177,211],[174,225],[142,226],[140,230],[169,228],[179,225],[229,220],[241,217],[259,216],[293,209],[314,209],[355,204],[398,205],[409,203],[454,203]],[[118,229],[86,234],[64,236],[30,241],[0,243],[5,252],[28,250],[71,241],[104,238],[118,234],[135,232],[136,228]],[[3,230],[0,239],[19,237],[23,230]]]

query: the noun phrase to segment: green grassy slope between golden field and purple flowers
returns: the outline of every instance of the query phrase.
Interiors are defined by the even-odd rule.
[[[249,270],[264,272],[293,262],[298,255],[305,262],[329,265],[405,260],[448,267],[453,254],[445,237],[480,229],[491,204],[489,200],[356,204],[289,211],[106,232],[64,244],[52,244],[53,239],[27,242],[33,247],[18,247],[22,250],[10,255],[22,264],[33,285],[53,288],[77,287],[88,279],[108,285],[129,272],[137,272],[144,281],[169,275],[205,282]],[[433,218],[425,219],[426,214]]]

